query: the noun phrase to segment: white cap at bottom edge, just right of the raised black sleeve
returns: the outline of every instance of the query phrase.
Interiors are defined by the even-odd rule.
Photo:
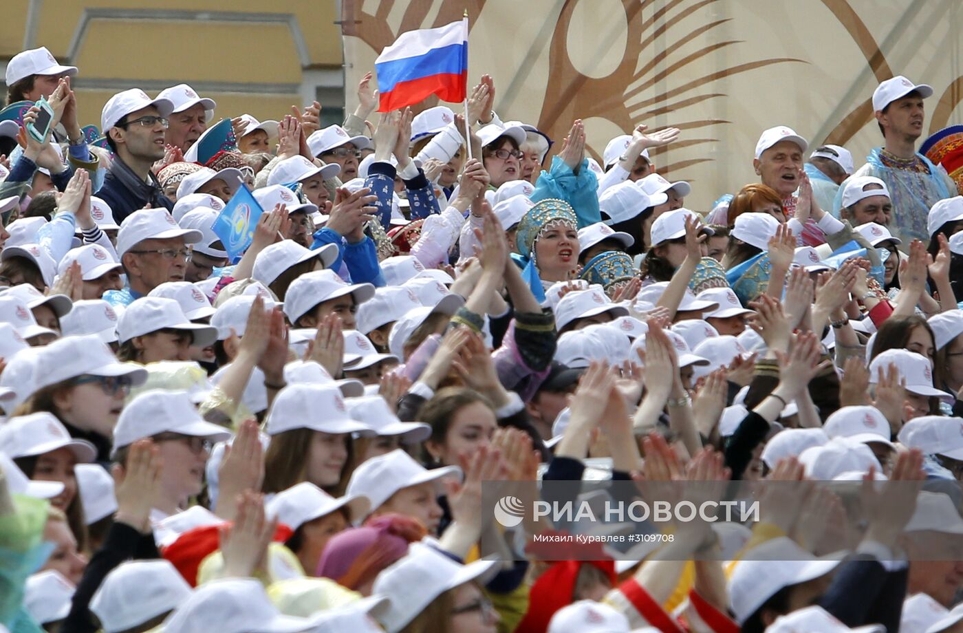
[[[118,633],[176,609],[191,593],[169,561],[127,561],[104,577],[91,599],[91,611],[104,633]]]

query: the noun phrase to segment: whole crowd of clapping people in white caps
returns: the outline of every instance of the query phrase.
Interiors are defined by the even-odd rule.
[[[369,73],[322,127],[186,84],[81,121],[78,73],[23,51],[0,111],[0,630],[963,631],[963,126],[923,140],[929,86],[879,84],[872,150],[762,130],[691,209],[679,129],[553,141],[487,75],[414,114]],[[594,558],[482,504],[583,480],[767,503]],[[825,488],[772,492],[810,481],[862,482],[847,540]]]

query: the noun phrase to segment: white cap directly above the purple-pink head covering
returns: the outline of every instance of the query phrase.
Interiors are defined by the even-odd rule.
[[[371,510],[376,511],[402,488],[433,483],[438,494],[444,494],[443,479],[461,479],[461,468],[442,466],[429,470],[398,448],[363,462],[351,473],[347,493],[371,499]],[[377,593],[377,590],[376,592]]]

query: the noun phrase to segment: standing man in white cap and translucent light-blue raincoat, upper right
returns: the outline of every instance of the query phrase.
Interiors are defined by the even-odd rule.
[[[872,111],[883,134],[883,146],[873,147],[866,165],[850,176],[875,176],[886,183],[894,209],[890,230],[907,243],[928,240],[926,215],[930,207],[956,195],[956,185],[947,171],[916,151],[923,134],[923,100],[932,93],[931,87],[914,84],[901,75],[876,87]],[[843,206],[844,187],[836,195],[834,211]]]

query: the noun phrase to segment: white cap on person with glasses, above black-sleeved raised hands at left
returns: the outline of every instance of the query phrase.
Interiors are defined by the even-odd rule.
[[[114,428],[114,453],[138,439],[161,433],[209,437],[211,441],[231,436],[225,428],[200,416],[187,391],[149,389],[134,396],[120,411]]]

